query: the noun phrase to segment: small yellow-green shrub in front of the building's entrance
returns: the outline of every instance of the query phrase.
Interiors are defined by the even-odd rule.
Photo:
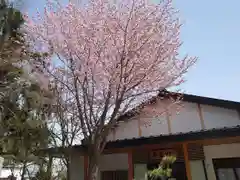
[[[171,177],[172,168],[171,165],[176,161],[176,157],[174,156],[164,156],[159,167],[149,171],[149,177],[152,180],[159,179],[161,177]]]

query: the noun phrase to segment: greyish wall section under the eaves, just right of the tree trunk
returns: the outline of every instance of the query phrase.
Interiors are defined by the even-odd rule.
[[[100,171],[127,170],[128,154],[107,154],[103,155],[99,164]]]

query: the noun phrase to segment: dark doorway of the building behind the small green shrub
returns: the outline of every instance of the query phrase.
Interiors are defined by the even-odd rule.
[[[151,163],[151,164],[148,164],[147,168],[148,168],[148,170],[153,170],[155,168],[158,168],[158,165],[159,165],[159,163]],[[187,180],[184,162],[175,162],[172,165],[171,178],[175,178],[176,180]],[[148,180],[150,180],[150,178],[148,178]],[[159,179],[159,180],[161,180],[161,179]]]

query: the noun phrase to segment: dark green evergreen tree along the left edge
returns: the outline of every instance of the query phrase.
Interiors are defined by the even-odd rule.
[[[28,60],[36,53],[23,49],[23,23],[21,12],[1,0],[0,155],[5,157],[5,165],[20,165],[26,170],[30,162],[42,161],[33,151],[46,148],[49,143],[45,119],[51,97],[28,68]]]

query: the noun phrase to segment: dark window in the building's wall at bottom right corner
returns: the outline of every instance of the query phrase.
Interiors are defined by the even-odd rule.
[[[240,180],[240,158],[213,159],[217,180]]]

